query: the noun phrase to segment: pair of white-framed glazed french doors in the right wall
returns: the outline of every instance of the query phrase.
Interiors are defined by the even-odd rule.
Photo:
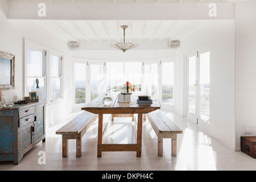
[[[210,122],[210,52],[187,57],[187,118],[199,125]]]

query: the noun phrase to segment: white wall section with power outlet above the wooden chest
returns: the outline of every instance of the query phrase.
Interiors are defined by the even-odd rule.
[[[256,2],[236,4],[236,147],[244,126],[256,135]],[[248,134],[247,134],[248,135]]]

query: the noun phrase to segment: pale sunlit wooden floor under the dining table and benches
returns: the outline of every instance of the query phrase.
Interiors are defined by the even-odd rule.
[[[166,113],[183,134],[177,137],[177,156],[171,156],[171,139],[163,140],[163,157],[157,155],[157,138],[148,120],[143,121],[142,156],[136,152],[102,152],[97,158],[97,121],[82,138],[82,156],[76,158],[76,142],[69,141],[69,156],[62,158],[61,135],[55,131],[63,126],[47,128],[46,142],[38,143],[23,156],[18,166],[0,162],[0,170],[256,170],[256,159],[235,152],[204,130],[175,113]],[[110,115],[105,115],[105,121]],[[135,143],[131,118],[115,118],[110,122],[104,143]],[[46,164],[39,164],[39,151],[46,152]]]

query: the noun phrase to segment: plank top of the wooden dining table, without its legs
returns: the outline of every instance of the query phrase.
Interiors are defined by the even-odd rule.
[[[136,103],[139,95],[141,94],[132,93],[131,102],[118,102],[118,93],[111,93],[110,97],[113,99],[112,105],[105,106],[103,104],[105,95],[102,94],[81,109],[94,114],[146,114],[160,109],[160,106],[156,104],[152,104],[150,106],[139,106]]]

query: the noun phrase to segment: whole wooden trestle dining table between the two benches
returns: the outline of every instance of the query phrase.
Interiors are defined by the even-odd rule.
[[[150,106],[139,106],[137,99],[139,94],[131,94],[131,102],[118,102],[118,94],[110,94],[113,101],[110,106],[105,106],[103,99],[104,94],[98,96],[91,101],[82,110],[90,113],[98,114],[98,145],[97,156],[101,157],[101,153],[104,151],[136,151],[137,157],[141,157],[142,151],[142,121],[143,114],[150,113],[152,111],[160,109],[160,106],[152,104]],[[103,114],[138,114],[138,126],[137,126],[137,143],[135,144],[102,144],[102,128],[103,128]]]

